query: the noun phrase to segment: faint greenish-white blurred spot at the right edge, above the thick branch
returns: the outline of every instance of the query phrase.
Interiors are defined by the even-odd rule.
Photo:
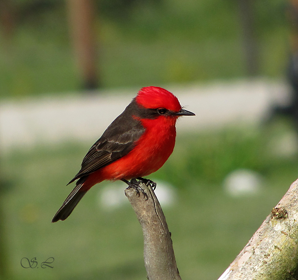
[[[298,136],[295,131],[289,131],[271,141],[271,152],[280,157],[290,157],[298,151]]]

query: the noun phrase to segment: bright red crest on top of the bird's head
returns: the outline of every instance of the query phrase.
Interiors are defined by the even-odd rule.
[[[179,112],[181,105],[178,98],[162,87],[143,87],[136,96],[136,102],[145,108],[166,108]]]

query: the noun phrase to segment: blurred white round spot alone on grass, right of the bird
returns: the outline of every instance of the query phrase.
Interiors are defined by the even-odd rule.
[[[260,190],[261,176],[246,169],[232,171],[224,179],[224,188],[231,196],[246,196],[256,194]]]

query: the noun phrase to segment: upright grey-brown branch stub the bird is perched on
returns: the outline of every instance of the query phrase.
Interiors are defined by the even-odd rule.
[[[131,206],[142,226],[144,235],[144,260],[149,280],[181,280],[171,234],[164,213],[151,186],[140,185],[148,195],[145,200],[141,195],[136,196],[132,188],[125,190]]]

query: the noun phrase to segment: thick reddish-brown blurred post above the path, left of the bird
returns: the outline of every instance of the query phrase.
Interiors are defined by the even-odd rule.
[[[67,0],[74,54],[85,89],[99,86],[94,0]]]

